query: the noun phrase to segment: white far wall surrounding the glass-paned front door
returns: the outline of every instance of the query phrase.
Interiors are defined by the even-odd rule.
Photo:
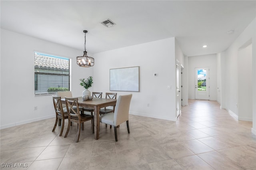
[[[217,100],[217,54],[188,57],[188,99],[195,99],[195,68],[210,69],[210,100]]]

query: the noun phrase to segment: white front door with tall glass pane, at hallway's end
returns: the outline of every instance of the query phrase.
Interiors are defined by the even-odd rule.
[[[195,70],[195,99],[209,100],[209,68],[203,67]]]

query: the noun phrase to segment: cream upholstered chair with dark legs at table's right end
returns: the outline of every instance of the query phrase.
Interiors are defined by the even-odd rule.
[[[116,127],[121,123],[126,122],[128,133],[129,129],[129,109],[132,99],[132,94],[130,95],[120,95],[116,102],[116,107],[114,113],[108,113],[100,116],[100,122],[114,126],[115,139],[117,139],[117,129]]]

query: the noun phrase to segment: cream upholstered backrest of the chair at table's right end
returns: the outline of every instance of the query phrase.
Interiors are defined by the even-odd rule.
[[[132,99],[130,95],[120,95],[116,101],[116,109],[114,112],[114,126],[120,125],[129,120],[129,109]]]

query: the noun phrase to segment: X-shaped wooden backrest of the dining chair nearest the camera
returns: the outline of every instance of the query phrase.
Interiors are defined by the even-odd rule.
[[[68,112],[68,119],[70,117],[78,117],[80,119],[79,107],[78,107],[78,98],[77,97],[65,97],[66,108]]]

